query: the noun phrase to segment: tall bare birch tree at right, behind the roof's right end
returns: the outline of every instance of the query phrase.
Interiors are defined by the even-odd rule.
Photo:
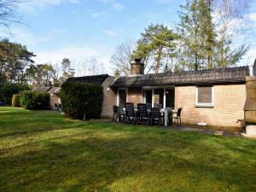
[[[248,46],[235,37],[245,35],[244,15],[250,0],[212,0],[211,9],[218,28],[218,49],[215,60],[218,67],[236,65],[246,54]],[[236,46],[235,46],[236,44]]]

